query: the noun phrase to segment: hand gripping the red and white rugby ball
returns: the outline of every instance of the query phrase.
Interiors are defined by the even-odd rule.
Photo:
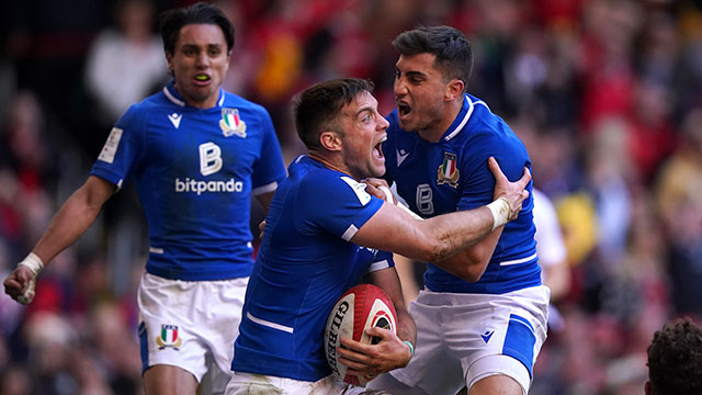
[[[371,380],[381,373],[407,366],[412,358],[411,351],[397,335],[392,330],[377,327],[369,328],[365,332],[381,338],[381,341],[376,345],[367,345],[341,338],[341,347],[337,348],[337,352],[339,362],[349,368],[347,373],[363,375]]]

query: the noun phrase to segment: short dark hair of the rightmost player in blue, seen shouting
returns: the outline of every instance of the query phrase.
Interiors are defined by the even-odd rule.
[[[452,79],[463,81],[464,91],[473,70],[473,48],[465,35],[455,27],[417,27],[400,33],[393,46],[400,55],[432,54],[434,67],[441,71],[444,82]]]

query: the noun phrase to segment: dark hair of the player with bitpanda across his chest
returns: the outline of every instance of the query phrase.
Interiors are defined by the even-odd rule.
[[[227,42],[227,52],[234,48],[234,25],[217,7],[199,2],[188,8],[163,11],[159,16],[159,30],[163,40],[163,49],[168,54],[176,50],[180,30],[190,24],[215,24],[222,29]]]

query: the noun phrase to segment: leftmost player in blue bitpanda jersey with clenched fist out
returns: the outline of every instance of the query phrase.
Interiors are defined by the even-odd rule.
[[[138,291],[146,393],[195,394],[210,359],[222,392],[253,266],[250,196],[267,211],[286,172],[268,112],[222,89],[234,46],[224,13],[169,10],[160,31],[173,80],[116,122],[88,180],[4,286],[31,302],[43,266],[134,179],[150,241]]]

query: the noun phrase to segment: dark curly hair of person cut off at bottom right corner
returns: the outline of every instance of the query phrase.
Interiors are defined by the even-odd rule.
[[[666,324],[654,334],[646,365],[655,394],[702,394],[702,328],[690,318]]]

